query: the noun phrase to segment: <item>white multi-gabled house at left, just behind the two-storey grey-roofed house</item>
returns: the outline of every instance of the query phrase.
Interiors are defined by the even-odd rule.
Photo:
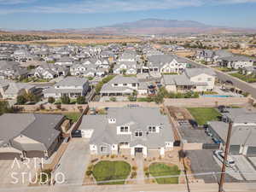
[[[69,68],[55,64],[44,63],[35,69],[34,76],[40,79],[55,79],[59,76],[67,76]]]

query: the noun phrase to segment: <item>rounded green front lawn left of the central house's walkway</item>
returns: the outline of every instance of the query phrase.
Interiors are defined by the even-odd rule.
[[[124,179],[119,182],[98,184],[125,184],[125,179],[130,175],[131,166],[125,161],[102,160],[93,166],[92,174],[97,182]]]

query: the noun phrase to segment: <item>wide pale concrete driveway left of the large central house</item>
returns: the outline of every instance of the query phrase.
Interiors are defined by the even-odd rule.
[[[66,152],[61,157],[59,166],[54,174],[63,173],[65,184],[82,184],[86,167],[90,162],[89,140],[73,138],[68,144]],[[59,179],[61,180],[61,178]],[[58,183],[56,183],[58,184]]]

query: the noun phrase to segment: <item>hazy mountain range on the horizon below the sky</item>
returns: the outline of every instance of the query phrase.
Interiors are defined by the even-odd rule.
[[[28,31],[19,31],[28,32]],[[32,31],[36,32],[36,31]],[[40,31],[42,32],[42,31]],[[153,34],[196,34],[196,33],[237,33],[256,32],[256,29],[210,26],[194,20],[160,20],[145,19],[134,22],[119,23],[112,26],[101,26],[81,29],[55,29],[44,32],[74,34],[107,34],[107,35],[153,35]]]

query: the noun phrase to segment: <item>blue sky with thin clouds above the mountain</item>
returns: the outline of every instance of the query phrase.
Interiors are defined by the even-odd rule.
[[[0,28],[108,26],[147,18],[256,28],[256,0],[0,0]]]

